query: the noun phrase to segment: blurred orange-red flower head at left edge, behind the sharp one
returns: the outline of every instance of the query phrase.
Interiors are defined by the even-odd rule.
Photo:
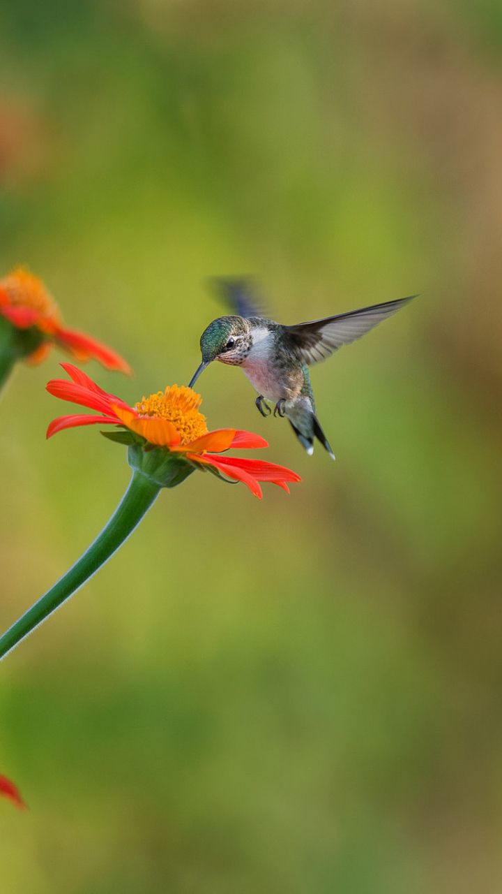
[[[39,363],[58,344],[74,358],[94,358],[107,369],[130,374],[129,364],[116,351],[90,335],[66,329],[44,283],[22,267],[0,280],[0,316],[16,330],[26,333],[26,343],[20,345],[19,356],[25,356],[29,363]]]

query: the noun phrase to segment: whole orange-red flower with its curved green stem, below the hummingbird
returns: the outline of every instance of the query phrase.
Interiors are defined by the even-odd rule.
[[[289,491],[289,482],[300,481],[296,472],[272,462],[220,456],[230,447],[267,447],[268,444],[258,434],[236,428],[208,432],[205,417],[199,411],[201,398],[191,388],[172,385],[130,407],[121,398],[103,391],[71,363],[62,363],[62,367],[71,381],[53,379],[47,384],[47,391],[63,401],[94,409],[96,414],[54,419],[47,428],[47,437],[74,426],[114,426],[115,431],[101,434],[128,445],[132,475],[117,509],[86,552],[0,637],[0,660],[121,548],[163,488],[177,487],[196,469],[213,472],[223,481],[241,481],[259,499],[261,481],[270,481],[285,491]]]

